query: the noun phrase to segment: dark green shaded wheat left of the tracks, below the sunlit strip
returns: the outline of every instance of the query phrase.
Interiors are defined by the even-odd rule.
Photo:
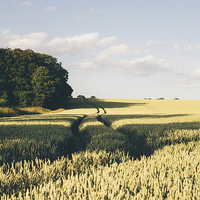
[[[60,156],[70,155],[72,140],[71,129],[60,125],[2,126],[0,165],[35,160],[36,157],[56,160]]]

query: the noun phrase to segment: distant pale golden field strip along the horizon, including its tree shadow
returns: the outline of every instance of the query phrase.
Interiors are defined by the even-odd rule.
[[[148,99],[92,99],[89,101],[105,108],[109,115],[129,114],[200,114],[200,100],[148,100]],[[96,109],[81,98],[68,102],[66,114],[93,114]]]

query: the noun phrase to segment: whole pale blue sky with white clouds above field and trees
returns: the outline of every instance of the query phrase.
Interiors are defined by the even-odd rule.
[[[73,97],[200,99],[199,0],[0,0],[0,48],[56,57]]]

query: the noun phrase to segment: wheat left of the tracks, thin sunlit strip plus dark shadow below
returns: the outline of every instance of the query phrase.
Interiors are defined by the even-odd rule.
[[[83,117],[28,115],[0,119],[5,122],[0,124],[0,166],[35,158],[53,161],[61,156],[71,157],[82,148],[73,129]]]

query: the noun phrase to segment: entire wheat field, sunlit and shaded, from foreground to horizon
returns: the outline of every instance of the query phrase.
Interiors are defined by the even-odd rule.
[[[200,101],[88,100],[0,118],[1,199],[200,199]]]

